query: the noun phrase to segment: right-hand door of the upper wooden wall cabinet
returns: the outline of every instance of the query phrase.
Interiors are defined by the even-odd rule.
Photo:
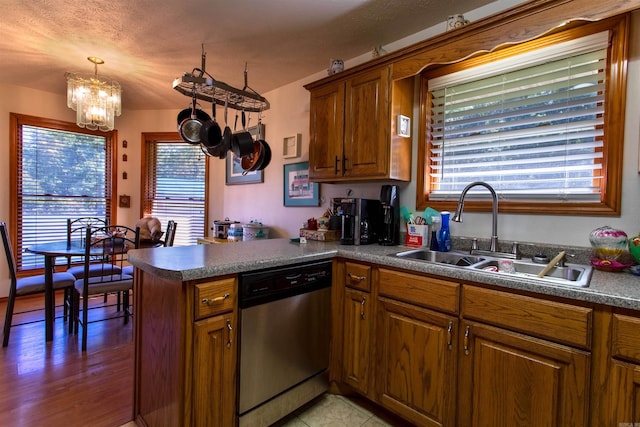
[[[346,83],[344,176],[384,178],[389,174],[389,68]]]

